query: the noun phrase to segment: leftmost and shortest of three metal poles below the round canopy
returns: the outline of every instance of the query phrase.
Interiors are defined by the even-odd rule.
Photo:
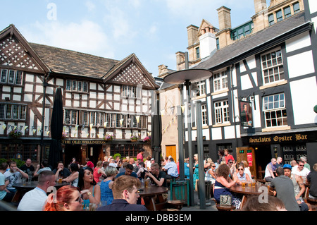
[[[178,161],[180,162],[180,181],[185,181],[184,168],[184,129],[182,128],[182,108],[178,106]]]

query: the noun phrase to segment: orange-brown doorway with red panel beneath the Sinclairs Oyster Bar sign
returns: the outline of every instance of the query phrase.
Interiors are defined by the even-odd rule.
[[[253,147],[237,147],[237,165],[242,161],[247,161],[251,171],[251,175],[256,177],[256,159]]]

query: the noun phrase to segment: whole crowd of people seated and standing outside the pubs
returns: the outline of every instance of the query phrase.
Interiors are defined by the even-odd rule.
[[[179,177],[180,166],[173,157],[166,157],[157,164],[151,157],[143,158],[144,150],[137,154],[137,160],[127,157],[104,157],[96,166],[88,158],[80,165],[73,158],[64,166],[58,162],[56,169],[49,166],[47,160],[35,168],[31,159],[27,159],[18,168],[15,162],[0,165],[0,200],[11,202],[15,194],[14,183],[20,183],[22,178],[37,180],[37,187],[28,191],[18,202],[17,209],[21,211],[74,211],[87,210],[91,207],[97,210],[147,210],[139,198],[137,190],[144,180],[149,179],[156,186],[168,187],[168,179]],[[237,163],[228,152],[220,150],[217,162],[210,158],[204,160],[205,181],[213,185],[213,197],[220,202],[221,195],[231,195],[232,205],[241,210],[294,210],[309,211],[311,205],[304,202],[302,195],[309,185],[309,197],[317,199],[317,164],[311,166],[306,157],[299,162],[282,164],[282,158],[271,159],[266,166],[264,180],[268,189],[274,192],[275,198],[269,197],[270,204],[259,205],[254,198],[244,207],[240,207],[242,196],[230,192],[230,187],[242,185],[243,181],[251,181],[249,164],[245,161]],[[189,158],[184,162],[185,178],[193,171],[193,185],[196,188],[199,179],[198,154],[194,154],[193,168],[189,168]],[[49,188],[55,186],[61,179],[68,185],[58,188],[47,196]],[[267,202],[266,202],[267,203]],[[258,204],[258,205],[256,205]]]

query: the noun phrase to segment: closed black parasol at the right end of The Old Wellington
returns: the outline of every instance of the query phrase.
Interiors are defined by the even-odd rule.
[[[153,150],[152,157],[155,159],[155,162],[161,166],[162,121],[159,108],[159,100],[156,100],[156,108],[151,118],[151,146]]]

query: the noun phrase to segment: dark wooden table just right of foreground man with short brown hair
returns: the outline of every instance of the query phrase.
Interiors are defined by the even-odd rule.
[[[142,188],[139,190],[139,196],[143,197],[145,207],[150,211],[157,211],[163,209],[166,205],[166,200],[163,194],[168,193],[168,188],[158,187],[149,184],[147,188]]]

